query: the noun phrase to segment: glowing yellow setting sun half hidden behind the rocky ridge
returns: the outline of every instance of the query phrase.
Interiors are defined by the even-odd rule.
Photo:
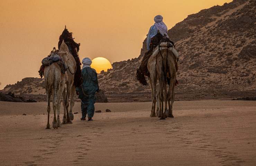
[[[91,67],[94,68],[97,73],[100,73],[102,70],[106,72],[109,68],[112,68],[112,65],[108,59],[97,57],[92,59]]]

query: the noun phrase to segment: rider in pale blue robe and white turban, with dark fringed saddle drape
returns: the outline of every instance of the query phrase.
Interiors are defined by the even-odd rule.
[[[145,76],[148,76],[148,77],[150,76],[147,69],[147,63],[148,63],[149,57],[154,52],[154,48],[156,48],[156,46],[158,46],[160,42],[169,42],[169,43],[172,43],[172,45],[174,46],[174,43],[168,37],[168,34],[167,34],[168,29],[163,22],[163,17],[161,15],[157,15],[155,16],[154,21],[155,21],[155,24],[149,28],[149,31],[147,34],[147,52],[145,53],[141,61],[140,67],[138,68],[136,73],[137,80],[144,86],[148,85],[145,78]]]

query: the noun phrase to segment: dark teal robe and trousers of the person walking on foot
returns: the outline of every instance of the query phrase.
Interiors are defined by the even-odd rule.
[[[94,115],[94,103],[95,93],[99,90],[99,83],[96,71],[91,67],[85,67],[82,69],[83,83],[80,87],[76,87],[76,91],[79,91],[78,98],[81,99],[81,111],[82,118],[93,117]]]

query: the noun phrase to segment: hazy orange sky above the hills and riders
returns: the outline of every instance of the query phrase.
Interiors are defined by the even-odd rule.
[[[111,63],[138,57],[155,15],[168,29],[188,15],[231,0],[0,0],[0,89],[38,77],[42,58],[65,25],[81,43],[80,58]]]

